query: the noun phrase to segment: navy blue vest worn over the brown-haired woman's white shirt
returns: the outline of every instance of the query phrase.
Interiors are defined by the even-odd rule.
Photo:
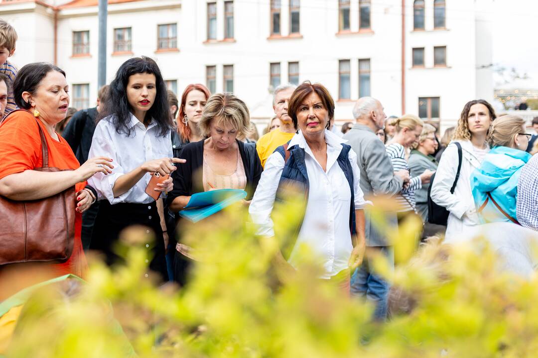
[[[289,142],[288,142],[289,143]],[[293,145],[293,147],[288,148],[289,158],[284,164],[284,169],[282,169],[282,175],[278,184],[277,199],[285,201],[290,194],[301,194],[305,196],[305,203],[308,201],[308,191],[309,191],[309,181],[308,173],[306,170],[305,164],[305,150],[299,147],[299,145]],[[351,147],[348,144],[342,144],[342,151],[336,159],[336,162],[344,172],[345,178],[348,179],[349,188],[351,190],[351,204],[349,211],[349,229],[351,235],[355,234],[355,189],[353,188],[353,171],[351,168],[351,163],[349,162],[349,151]],[[275,149],[275,152],[279,152],[282,158],[286,159],[286,150],[284,146],[280,146]],[[294,193],[290,193],[290,189]],[[306,208],[306,205],[305,205]],[[282,248],[282,255],[287,260],[291,254],[299,232],[301,230],[303,218],[305,213],[302,213],[301,220],[299,225],[295,230],[293,237],[289,238],[288,242],[284,243]]]

